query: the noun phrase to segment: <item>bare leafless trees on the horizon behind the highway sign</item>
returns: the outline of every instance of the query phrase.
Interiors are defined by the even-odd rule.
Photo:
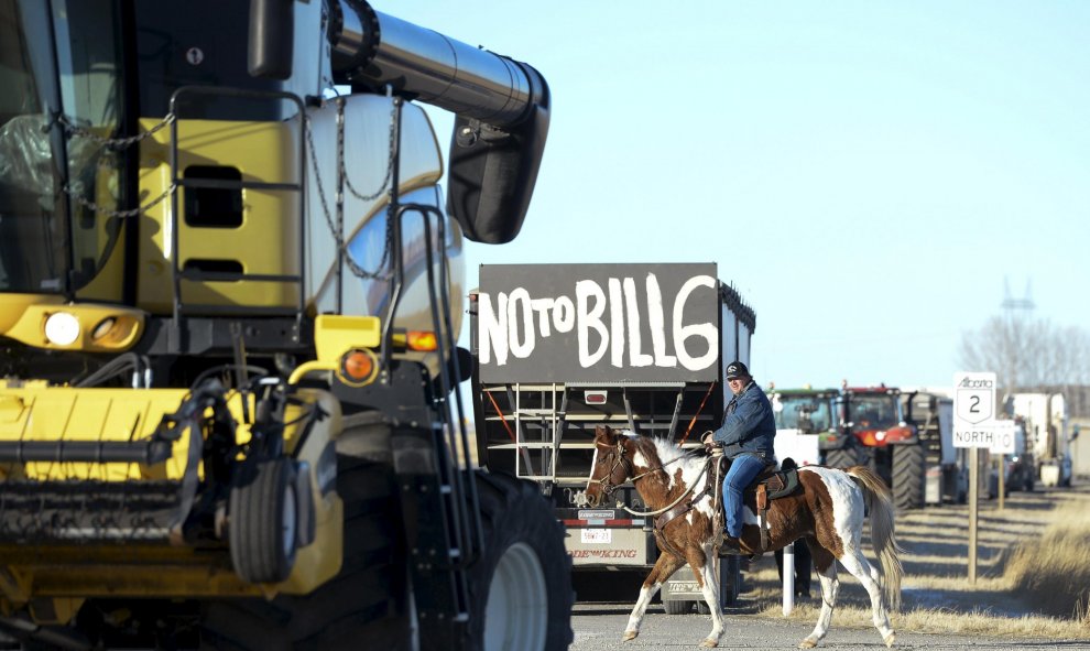
[[[979,330],[962,334],[959,364],[995,371],[1002,391],[1090,384],[1090,333],[1047,319],[992,316]]]

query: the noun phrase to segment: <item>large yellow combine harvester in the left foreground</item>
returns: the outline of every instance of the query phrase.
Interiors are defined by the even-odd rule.
[[[536,70],[363,0],[0,0],[0,647],[567,648],[454,390]]]

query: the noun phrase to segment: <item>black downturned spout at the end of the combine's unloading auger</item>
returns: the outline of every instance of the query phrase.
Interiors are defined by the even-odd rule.
[[[519,65],[538,98],[524,120],[499,128],[462,116],[455,119],[447,214],[475,242],[502,245],[519,235],[541,169],[548,134],[548,85],[537,70]]]

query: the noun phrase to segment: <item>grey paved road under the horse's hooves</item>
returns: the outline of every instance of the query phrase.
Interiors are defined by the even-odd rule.
[[[661,605],[652,605],[644,617],[640,637],[631,642],[622,642],[621,634],[629,620],[631,604],[578,604],[571,618],[575,642],[569,651],[636,651],[639,649],[699,649],[711,620],[708,617],[690,615],[665,615]],[[727,632],[719,643],[720,649],[796,649],[814,629],[813,622],[802,623],[782,619],[762,618],[753,615],[727,614]],[[832,628],[819,649],[861,651],[863,649],[885,649],[878,631],[869,629],[839,628],[833,616]],[[1002,649],[1064,651],[1090,650],[1084,640],[1018,640],[1010,638],[980,638],[967,636],[940,636],[897,631],[894,649],[936,649],[942,651],[989,651]]]

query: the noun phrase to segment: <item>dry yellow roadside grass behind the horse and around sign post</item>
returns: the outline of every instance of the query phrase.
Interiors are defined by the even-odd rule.
[[[975,584],[968,581],[968,522],[967,507],[949,504],[898,517],[906,574],[895,629],[1090,639],[1090,488],[1012,493],[1002,511],[982,501]],[[870,628],[866,593],[842,568],[840,579],[833,626]],[[743,600],[756,614],[782,617],[778,581],[771,555],[755,561]],[[816,598],[797,605],[792,620],[816,621],[816,575],[811,592]]]

